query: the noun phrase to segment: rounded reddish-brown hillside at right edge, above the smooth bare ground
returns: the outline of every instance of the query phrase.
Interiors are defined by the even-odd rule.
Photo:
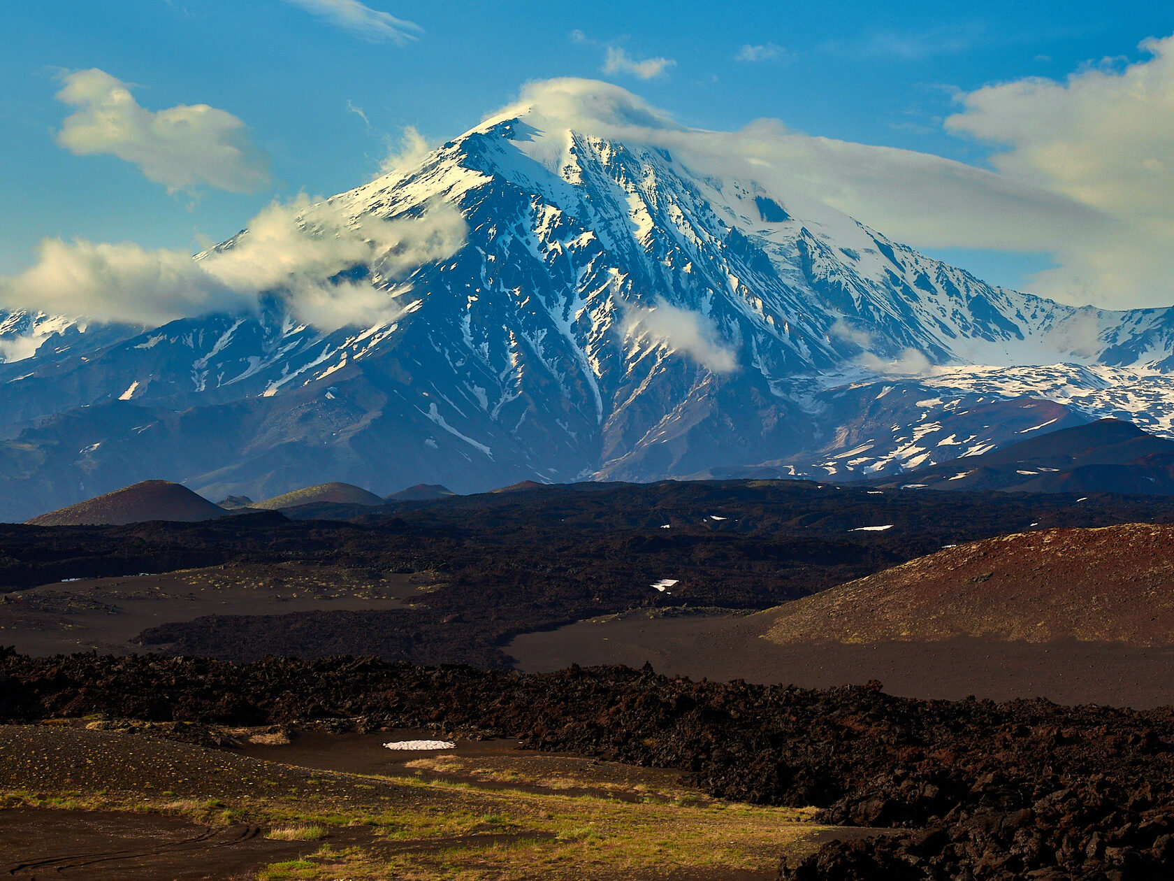
[[[757,617],[757,616],[756,616]],[[781,645],[977,637],[1174,645],[1174,527],[1017,533],[763,612]]]

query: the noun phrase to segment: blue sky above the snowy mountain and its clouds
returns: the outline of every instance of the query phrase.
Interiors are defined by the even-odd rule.
[[[405,127],[443,141],[511,102],[527,81],[581,76],[619,83],[686,126],[735,132],[769,117],[790,132],[994,170],[1044,201],[1074,200],[1104,215],[1100,229],[1115,230],[1081,227],[1081,241],[1113,241],[1095,260],[1067,254],[1062,229],[1054,243],[1028,236],[997,248],[960,223],[951,231],[944,221],[931,235],[898,217],[888,229],[875,218],[892,216],[880,202],[899,193],[839,207],[994,282],[1070,300],[1174,302],[1174,285],[1163,301],[1160,282],[1174,270],[1169,257],[1153,263],[1174,210],[1148,196],[1168,182],[1167,163],[1174,174],[1174,97],[1163,99],[1174,96],[1166,73],[1174,63],[1159,63],[1174,51],[1139,48],[1174,35],[1174,7],[1165,2],[39,0],[7,5],[2,23],[0,276],[32,265],[46,237],[197,250],[275,200],[370,180]],[[231,137],[248,146],[247,168],[180,180],[166,162],[150,172],[141,150],[95,147],[86,141],[92,132],[70,140],[66,120],[85,96],[56,95],[63,78],[93,68],[126,83],[144,113],[215,108],[216,132],[241,126]],[[1024,97],[1016,83],[1028,78],[1055,88]],[[1151,90],[1145,106],[1113,121],[1114,89],[1135,94],[1139,81]],[[1011,86],[984,90],[1000,83]],[[1030,120],[1052,108],[1064,119],[1033,129]],[[1140,141],[1143,155],[1105,146],[1098,119],[1114,130],[1138,127],[1139,136],[1121,137]],[[1057,129],[1064,139],[1052,137]],[[1093,153],[1088,180],[1057,159]],[[1116,189],[1093,193],[1100,180]],[[1126,216],[1139,199],[1143,224]],[[1048,273],[1057,267],[1064,271]]]

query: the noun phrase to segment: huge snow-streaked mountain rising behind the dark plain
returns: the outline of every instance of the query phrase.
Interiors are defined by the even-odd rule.
[[[363,327],[279,289],[146,330],[0,311],[0,518],[144,478],[256,498],[844,477],[1105,415],[1172,433],[1170,310],[991,287],[660,146],[515,108],[323,209],[363,234],[438,206],[466,227],[446,256],[340,274],[387,307]]]

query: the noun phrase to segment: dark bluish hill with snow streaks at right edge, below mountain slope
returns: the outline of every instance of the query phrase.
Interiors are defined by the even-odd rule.
[[[1020,432],[1024,433],[1024,432]],[[877,482],[935,490],[1174,493],[1174,441],[1120,419],[1065,428]]]

